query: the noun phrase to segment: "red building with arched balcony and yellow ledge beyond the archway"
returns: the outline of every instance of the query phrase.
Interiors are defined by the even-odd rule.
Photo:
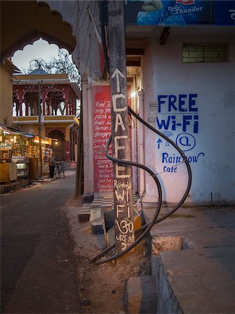
[[[68,75],[50,75],[38,69],[13,78],[13,124],[27,133],[52,137],[57,160],[77,161],[80,91]]]

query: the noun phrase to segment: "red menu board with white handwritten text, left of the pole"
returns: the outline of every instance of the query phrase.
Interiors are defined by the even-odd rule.
[[[94,191],[112,192],[113,165],[105,156],[105,145],[112,133],[110,87],[93,87]],[[112,145],[109,147],[112,155]]]

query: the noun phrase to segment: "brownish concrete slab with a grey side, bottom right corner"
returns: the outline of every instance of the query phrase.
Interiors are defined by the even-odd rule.
[[[235,248],[160,253],[159,314],[235,313]]]

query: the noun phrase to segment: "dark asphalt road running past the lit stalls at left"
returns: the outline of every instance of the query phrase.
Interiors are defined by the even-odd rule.
[[[81,313],[77,257],[63,207],[75,172],[1,195],[1,313]]]

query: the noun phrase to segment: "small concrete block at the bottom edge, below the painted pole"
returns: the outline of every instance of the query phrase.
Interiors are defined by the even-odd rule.
[[[130,277],[123,295],[123,309],[131,314],[157,312],[156,286],[151,276]]]

